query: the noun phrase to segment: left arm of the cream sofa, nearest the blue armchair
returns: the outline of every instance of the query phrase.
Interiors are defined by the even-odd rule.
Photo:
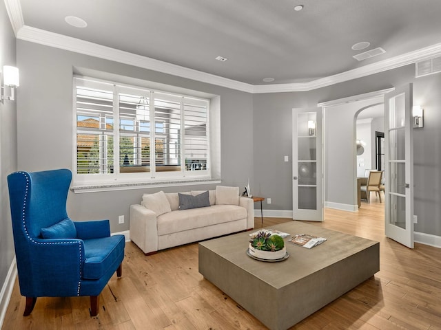
[[[130,206],[130,240],[145,254],[158,251],[156,213],[142,205]]]

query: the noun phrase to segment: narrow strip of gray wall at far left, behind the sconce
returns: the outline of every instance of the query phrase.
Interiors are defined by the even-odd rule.
[[[5,3],[0,1],[0,68],[3,68],[3,65],[16,65],[15,48],[15,36],[6,14]],[[0,283],[2,285],[15,253],[6,177],[17,170],[16,113],[16,102],[5,100],[3,104],[0,103]]]

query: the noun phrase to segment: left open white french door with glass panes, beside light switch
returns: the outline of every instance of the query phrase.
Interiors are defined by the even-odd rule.
[[[293,109],[293,219],[323,221],[322,109]]]

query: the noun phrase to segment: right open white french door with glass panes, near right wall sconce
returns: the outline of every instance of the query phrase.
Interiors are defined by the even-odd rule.
[[[386,236],[413,248],[412,85],[384,95]]]

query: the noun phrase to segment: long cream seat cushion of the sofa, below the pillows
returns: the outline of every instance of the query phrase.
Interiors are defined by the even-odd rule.
[[[157,218],[158,235],[174,234],[240,219],[247,219],[247,209],[234,205],[214,205],[207,208],[173,211]]]

